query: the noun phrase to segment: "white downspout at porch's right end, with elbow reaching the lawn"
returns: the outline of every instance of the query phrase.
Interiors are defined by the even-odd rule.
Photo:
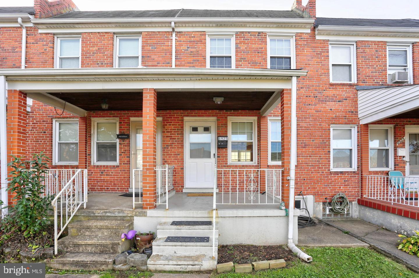
[[[294,187],[295,187],[295,165],[297,164],[297,77],[291,77],[291,151],[290,151],[290,205],[288,215],[288,248],[296,253],[301,260],[311,262],[313,258],[297,246],[292,238],[294,233]]]

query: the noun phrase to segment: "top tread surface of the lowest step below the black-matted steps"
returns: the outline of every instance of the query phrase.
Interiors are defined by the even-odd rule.
[[[210,260],[214,259],[208,255],[153,254],[147,265],[202,265]]]

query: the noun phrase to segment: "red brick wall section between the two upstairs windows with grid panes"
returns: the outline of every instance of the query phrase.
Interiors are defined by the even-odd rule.
[[[266,69],[268,67],[266,37],[266,33],[262,32],[236,32],[236,68]]]

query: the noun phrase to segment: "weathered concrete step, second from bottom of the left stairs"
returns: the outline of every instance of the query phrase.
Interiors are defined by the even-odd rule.
[[[105,232],[106,233],[106,232]],[[65,252],[121,253],[129,250],[132,240],[119,236],[67,236],[58,240],[58,248]]]

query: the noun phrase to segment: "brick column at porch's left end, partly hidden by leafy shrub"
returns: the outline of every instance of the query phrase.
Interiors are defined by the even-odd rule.
[[[7,95],[7,150],[8,162],[12,161],[10,157],[26,156],[26,93],[18,90],[8,90]],[[10,169],[11,170],[11,169]],[[9,204],[13,203],[14,193],[8,194]]]

